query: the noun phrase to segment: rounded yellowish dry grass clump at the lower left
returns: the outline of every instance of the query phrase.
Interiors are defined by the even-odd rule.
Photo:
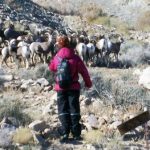
[[[18,144],[33,144],[33,136],[29,128],[19,128],[13,134],[13,142]]]

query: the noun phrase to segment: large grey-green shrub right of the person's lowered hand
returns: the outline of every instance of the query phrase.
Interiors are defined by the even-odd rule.
[[[128,106],[137,102],[143,103],[146,99],[146,92],[137,85],[131,73],[119,75],[117,80],[111,76],[94,76],[93,88],[96,90],[97,98],[106,105]]]

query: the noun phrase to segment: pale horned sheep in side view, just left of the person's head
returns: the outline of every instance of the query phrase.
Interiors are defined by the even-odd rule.
[[[49,33],[45,33],[48,35],[48,40],[46,42],[33,42],[30,45],[30,51],[31,51],[31,61],[32,64],[35,64],[35,57],[36,55],[39,56],[40,61],[42,61],[42,56],[44,56],[44,63],[47,62],[47,55],[49,52],[51,52],[51,55],[53,55],[53,43],[52,43],[52,35]]]

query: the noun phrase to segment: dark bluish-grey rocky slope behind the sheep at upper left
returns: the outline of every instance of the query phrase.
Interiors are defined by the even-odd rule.
[[[0,1],[0,12],[1,21],[36,23],[57,30],[66,29],[63,18],[59,14],[47,10],[31,0],[2,0]]]

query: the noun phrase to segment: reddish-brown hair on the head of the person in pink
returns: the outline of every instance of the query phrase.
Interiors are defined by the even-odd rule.
[[[57,42],[62,47],[69,47],[69,39],[68,39],[68,37],[66,35],[59,36],[57,38]]]

